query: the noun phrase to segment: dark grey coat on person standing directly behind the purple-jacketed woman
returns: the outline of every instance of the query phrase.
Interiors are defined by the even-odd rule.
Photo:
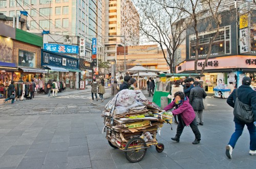
[[[200,86],[195,86],[190,90],[189,103],[194,110],[203,110],[203,99],[207,96],[206,92]]]

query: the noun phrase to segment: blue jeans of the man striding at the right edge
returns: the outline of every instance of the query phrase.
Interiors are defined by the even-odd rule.
[[[232,134],[228,144],[232,146],[232,148],[234,148],[238,138],[242,135],[245,125],[247,126],[247,129],[250,134],[250,150],[254,151],[256,150],[256,129],[253,123],[244,124],[244,123],[234,122],[234,126],[236,127],[236,130]]]

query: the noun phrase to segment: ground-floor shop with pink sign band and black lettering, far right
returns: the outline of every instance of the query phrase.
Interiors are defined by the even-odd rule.
[[[176,66],[177,73],[194,73],[195,61],[184,61]],[[204,60],[198,60],[198,71],[202,69]],[[215,93],[216,96],[223,98],[224,93],[216,89],[229,89],[230,94],[234,88],[242,85],[243,77],[252,79],[252,85],[256,88],[256,56],[228,56],[210,58],[204,71],[205,90]],[[224,91],[227,92],[227,91]],[[223,95],[222,95],[223,94]],[[227,94],[225,95],[226,98]]]

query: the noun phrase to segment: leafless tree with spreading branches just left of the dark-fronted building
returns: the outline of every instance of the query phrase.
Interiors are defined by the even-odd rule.
[[[167,8],[158,1],[138,0],[135,4],[140,13],[141,36],[147,42],[160,45],[163,57],[173,73],[173,54],[185,39],[182,36],[187,28],[187,24],[184,24],[185,12]]]

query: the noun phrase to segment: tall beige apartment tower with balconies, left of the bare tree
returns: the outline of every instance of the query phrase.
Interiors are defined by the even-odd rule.
[[[139,14],[131,0],[105,0],[104,43],[108,61],[118,60],[117,46],[139,45]]]

